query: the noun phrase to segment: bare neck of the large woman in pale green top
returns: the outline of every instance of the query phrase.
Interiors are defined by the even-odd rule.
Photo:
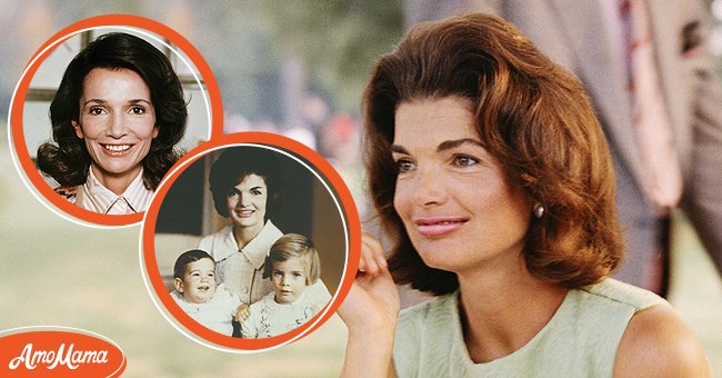
[[[507,266],[459,275],[464,342],[477,364],[527,345],[551,320],[569,291],[532,276],[523,256]]]

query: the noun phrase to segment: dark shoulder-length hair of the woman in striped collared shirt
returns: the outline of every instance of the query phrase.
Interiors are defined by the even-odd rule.
[[[38,148],[38,169],[61,186],[86,182],[91,158],[71,121],[80,120],[80,97],[86,76],[96,68],[129,69],[150,89],[158,137],[143,158],[143,183],[154,190],[182,156],[176,145],[185,132],[188,111],[183,89],[168,58],[141,38],[113,32],[98,37],[70,62],[50,105],[52,139]]]

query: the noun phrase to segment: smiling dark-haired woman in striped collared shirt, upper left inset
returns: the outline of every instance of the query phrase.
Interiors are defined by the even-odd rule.
[[[66,70],[50,105],[54,143],[38,169],[77,206],[109,215],[144,211],[180,158],[188,117],[168,58],[141,38],[99,37]]]

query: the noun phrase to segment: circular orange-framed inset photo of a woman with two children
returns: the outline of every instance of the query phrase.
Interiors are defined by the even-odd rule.
[[[267,350],[335,311],[358,268],[359,216],[340,176],[303,145],[261,132],[221,139],[159,188],[143,222],[143,275],[195,341]]]

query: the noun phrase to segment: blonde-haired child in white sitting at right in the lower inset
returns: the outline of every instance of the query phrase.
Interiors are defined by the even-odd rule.
[[[299,233],[288,233],[273,243],[265,259],[264,278],[273,291],[251,305],[241,322],[241,336],[263,338],[285,334],[307,322],[331,299],[319,279],[321,262],[313,243]]]

